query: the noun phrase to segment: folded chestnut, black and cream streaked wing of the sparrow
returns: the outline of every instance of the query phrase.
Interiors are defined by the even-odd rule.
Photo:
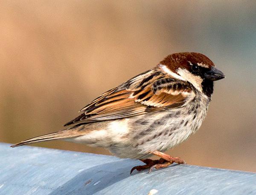
[[[183,106],[192,93],[189,83],[151,69],[111,89],[85,106],[64,126],[126,118]]]

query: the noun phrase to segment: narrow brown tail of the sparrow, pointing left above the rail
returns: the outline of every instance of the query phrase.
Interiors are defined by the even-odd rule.
[[[64,129],[62,131],[54,132],[54,133],[49,133],[46,135],[41,135],[35,138],[30,138],[28,140],[21,141],[20,143],[16,143],[15,145],[12,145],[12,148],[15,148],[17,146],[22,146],[26,145],[29,143],[36,143],[36,142],[41,142],[41,141],[50,141],[50,140],[58,140],[58,139],[64,139],[64,138],[72,138],[76,137],[76,135],[72,129]]]

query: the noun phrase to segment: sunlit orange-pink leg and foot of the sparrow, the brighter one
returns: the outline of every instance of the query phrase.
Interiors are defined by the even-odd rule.
[[[151,166],[150,169],[149,169],[149,172],[151,172],[154,168],[155,169],[164,168],[164,167],[169,166],[172,163],[186,164],[186,162],[184,160],[182,160],[181,158],[172,157],[172,156],[167,155],[163,152],[154,151],[154,152],[151,152],[151,154],[159,156],[160,159],[164,159],[165,161],[163,163],[157,163],[157,164],[154,164],[153,166]]]

